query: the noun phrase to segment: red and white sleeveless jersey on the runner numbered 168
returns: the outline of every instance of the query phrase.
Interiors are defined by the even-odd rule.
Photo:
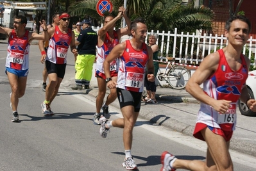
[[[142,92],[148,58],[148,50],[145,43],[142,44],[140,51],[136,51],[133,49],[130,40],[126,40],[123,56],[119,58],[117,87],[132,92]]]

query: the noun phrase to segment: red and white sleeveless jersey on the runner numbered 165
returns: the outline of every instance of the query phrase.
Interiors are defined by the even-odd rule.
[[[248,77],[248,67],[243,54],[241,54],[241,68],[234,71],[230,69],[223,50],[218,50],[218,53],[218,69],[203,83],[203,91],[216,100],[232,101],[230,109],[225,114],[220,114],[211,106],[201,103],[197,123],[200,122],[225,131],[234,131],[237,118],[237,101]]]

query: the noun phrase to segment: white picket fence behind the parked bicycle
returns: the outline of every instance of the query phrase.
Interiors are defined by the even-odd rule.
[[[98,31],[98,29],[99,27],[94,28],[95,31]],[[151,33],[157,33],[159,37],[157,40],[157,45],[160,47],[160,52],[158,56],[175,57],[175,60],[178,61],[178,63],[185,63],[191,65],[199,65],[200,62],[205,58],[205,56],[207,56],[211,52],[215,52],[218,49],[222,49],[228,44],[228,40],[226,37],[224,37],[224,35],[218,37],[218,35],[207,35],[206,33],[204,33],[203,35],[201,35],[201,33],[185,34],[183,32],[181,34],[178,34],[176,28],[175,33],[171,33],[170,31],[168,31],[168,33],[165,33],[164,31],[160,33],[158,30],[151,30],[151,32],[148,31],[148,35]],[[173,38],[173,45],[170,45],[171,38]],[[177,44],[177,39],[180,40],[179,45]],[[148,38],[146,38],[146,43],[147,41]],[[189,46],[191,46],[191,51],[188,50]],[[170,47],[173,48],[171,49]],[[253,39],[252,37],[248,39],[247,44],[244,45],[243,54],[246,53],[246,48],[248,48],[249,50],[248,58],[251,58],[251,56],[255,57],[256,39]],[[178,49],[179,54],[176,55],[176,51]],[[254,63],[251,63],[251,65],[255,67],[256,59],[254,60]]]

